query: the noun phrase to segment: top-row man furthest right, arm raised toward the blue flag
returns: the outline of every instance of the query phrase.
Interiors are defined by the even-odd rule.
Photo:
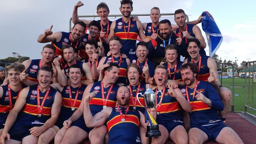
[[[183,9],[177,9],[174,12],[174,21],[179,26],[175,31],[176,35],[178,36],[178,34],[180,34],[182,36],[182,41],[185,42],[185,44],[187,44],[188,39],[197,38],[200,41],[200,54],[206,55],[204,50],[204,48],[206,48],[206,42],[204,41],[200,28],[194,24],[188,24],[186,19]],[[189,57],[186,48],[182,49],[180,52],[185,59]]]

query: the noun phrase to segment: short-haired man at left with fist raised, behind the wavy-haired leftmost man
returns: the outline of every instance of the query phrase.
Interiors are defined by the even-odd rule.
[[[42,66],[52,66],[55,56],[55,48],[46,44],[41,52],[42,59],[28,59],[22,64],[26,67],[26,72],[20,73],[20,80],[27,86],[38,84],[37,74]]]

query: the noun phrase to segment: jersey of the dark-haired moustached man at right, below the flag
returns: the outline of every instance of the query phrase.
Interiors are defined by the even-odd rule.
[[[201,66],[200,66],[200,72],[198,73],[198,80],[199,81],[208,81],[208,78],[210,76],[210,69],[208,68],[207,61],[209,56],[207,55],[201,55]],[[191,63],[191,57],[187,58],[187,63]],[[196,63],[198,68],[198,63]]]

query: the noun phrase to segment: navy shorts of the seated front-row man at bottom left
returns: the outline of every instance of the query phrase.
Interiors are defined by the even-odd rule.
[[[11,139],[22,141],[22,139],[30,134],[29,129],[31,129],[34,126],[19,126],[19,127],[12,127],[9,130],[9,134],[11,136]]]

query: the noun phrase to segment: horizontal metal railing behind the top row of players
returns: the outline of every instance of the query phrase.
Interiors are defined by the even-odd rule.
[[[174,13],[161,13],[161,16],[174,16]],[[186,14],[185,14],[186,15]],[[141,16],[150,16],[150,14],[132,14],[131,15],[132,17],[133,16],[137,16],[137,17],[141,17]],[[82,17],[82,18],[96,18],[96,17],[99,17],[98,15],[78,15],[78,17]],[[122,15],[108,15],[108,17],[122,17]],[[186,18],[187,18],[187,22],[189,21],[189,18],[188,16],[186,15]],[[72,17],[69,19],[69,32],[71,31],[71,24],[72,24]]]

